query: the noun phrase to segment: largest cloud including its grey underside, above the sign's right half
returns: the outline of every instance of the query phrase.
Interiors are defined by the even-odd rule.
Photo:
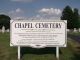
[[[38,11],[36,18],[39,19],[60,19],[61,10],[57,8],[42,8]]]

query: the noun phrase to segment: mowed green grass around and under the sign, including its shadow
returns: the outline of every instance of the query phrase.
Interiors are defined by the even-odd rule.
[[[21,47],[21,60],[57,60],[56,48]],[[10,47],[10,34],[0,33],[0,60],[18,60],[17,47]],[[66,48],[60,48],[60,60],[80,60],[80,44],[68,38]]]

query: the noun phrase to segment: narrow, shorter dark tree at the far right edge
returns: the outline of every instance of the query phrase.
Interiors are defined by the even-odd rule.
[[[74,24],[74,28],[79,28],[80,27],[80,21],[79,21],[79,14],[78,14],[78,9],[75,8],[74,12],[73,12],[73,24]]]

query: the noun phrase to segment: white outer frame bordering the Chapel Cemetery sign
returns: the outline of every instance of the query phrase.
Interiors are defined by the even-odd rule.
[[[12,39],[12,23],[14,21],[26,21],[26,22],[64,22],[65,23],[65,44],[63,46],[58,47],[66,47],[67,46],[67,21],[66,20],[11,20],[10,21],[10,46],[28,46],[33,48],[44,48],[44,47],[56,47],[57,45],[39,45],[39,46],[30,46],[30,45],[14,45],[11,41]]]

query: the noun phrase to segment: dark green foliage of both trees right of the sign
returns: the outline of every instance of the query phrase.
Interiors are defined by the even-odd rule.
[[[70,6],[66,6],[63,9],[61,20],[67,20],[67,28],[68,29],[74,29],[74,28],[79,28],[79,14],[78,14],[78,9],[75,8],[72,10]]]

